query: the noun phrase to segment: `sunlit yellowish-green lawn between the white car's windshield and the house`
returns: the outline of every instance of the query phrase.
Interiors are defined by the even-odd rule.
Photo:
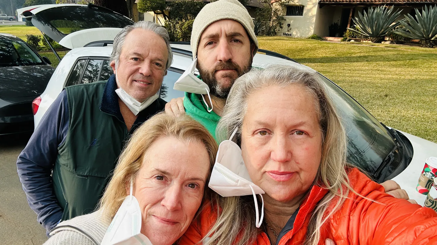
[[[259,37],[260,48],[307,65],[387,126],[437,143],[437,48]]]

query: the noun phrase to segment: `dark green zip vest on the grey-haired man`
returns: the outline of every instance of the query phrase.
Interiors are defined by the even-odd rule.
[[[64,209],[62,221],[96,209],[130,136],[122,120],[99,108],[105,85],[106,81],[66,88],[69,129],[66,140],[58,148],[52,173],[55,196]],[[162,110],[161,100],[141,113],[149,113],[148,119]],[[131,133],[138,126],[132,126]]]

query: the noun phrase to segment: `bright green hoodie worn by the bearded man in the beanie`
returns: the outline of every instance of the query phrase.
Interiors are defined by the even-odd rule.
[[[215,128],[217,127],[217,122],[220,119],[220,116],[213,111],[208,112],[206,105],[203,102],[202,95],[185,92],[184,107],[187,115],[205,126],[217,141],[217,138],[215,137]]]

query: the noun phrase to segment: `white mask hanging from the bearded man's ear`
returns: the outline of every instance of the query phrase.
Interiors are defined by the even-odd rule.
[[[173,89],[202,95],[202,99],[206,105],[206,109],[208,110],[208,112],[211,112],[212,101],[211,96],[209,96],[209,87],[205,82],[203,82],[196,75],[194,75],[196,64],[197,58],[194,59],[188,69],[184,71],[184,73],[182,73],[179,79],[177,79],[177,81],[174,83]],[[205,97],[203,96],[205,94],[208,94],[209,102],[211,103],[211,109],[209,109],[209,106],[205,101]]]

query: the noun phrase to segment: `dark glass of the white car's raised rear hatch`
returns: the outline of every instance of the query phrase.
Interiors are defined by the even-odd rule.
[[[132,25],[127,17],[104,8],[59,6],[42,10],[32,17],[32,24],[59,42],[67,34],[83,29]]]

